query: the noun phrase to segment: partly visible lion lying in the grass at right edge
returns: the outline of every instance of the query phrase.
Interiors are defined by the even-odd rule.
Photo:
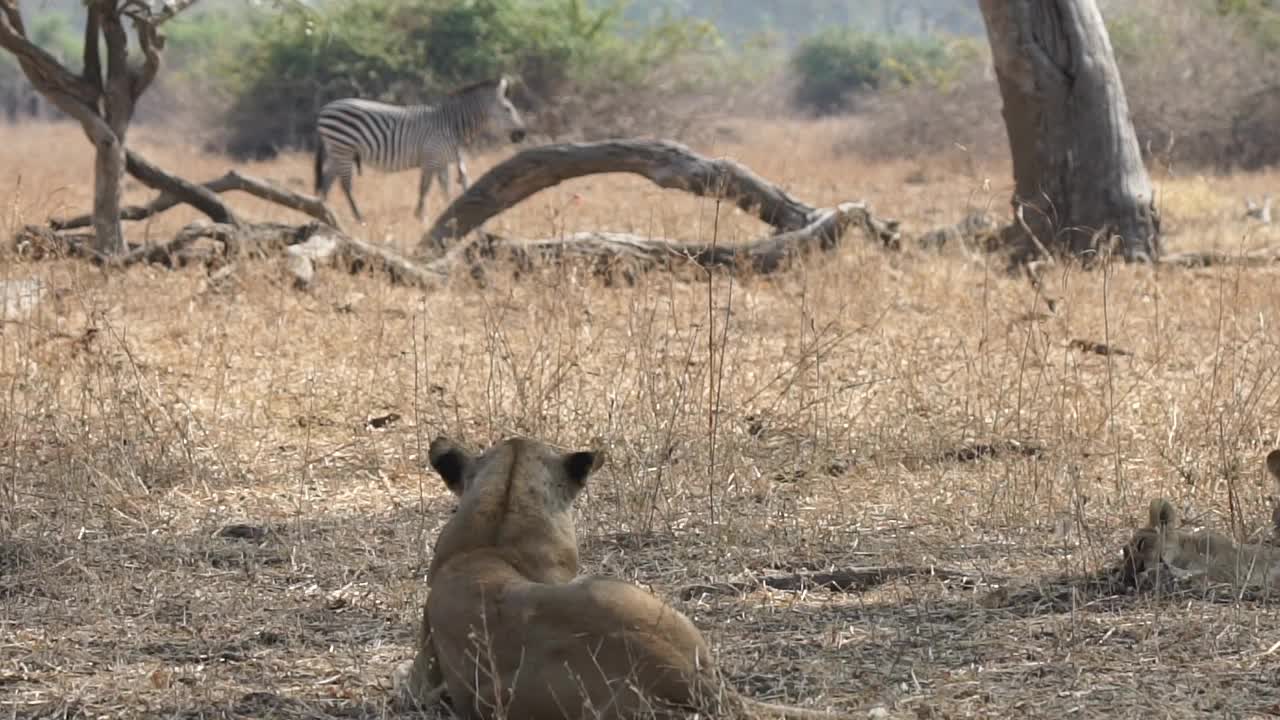
[[[1213,530],[1183,530],[1174,503],[1162,497],[1151,501],[1147,527],[1134,532],[1123,555],[1123,574],[1129,585],[1156,568],[1174,575],[1201,575],[1215,583],[1242,585],[1274,584],[1280,579],[1280,553],[1275,548],[1236,546]]]

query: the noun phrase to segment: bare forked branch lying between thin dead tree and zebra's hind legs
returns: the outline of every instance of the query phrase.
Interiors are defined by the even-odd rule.
[[[128,155],[128,163],[129,163],[129,165],[128,167],[129,167],[129,172],[131,173],[133,173],[133,170],[134,170],[134,163],[136,161],[137,163],[145,163],[145,160],[141,160],[141,158],[138,158],[132,151],[129,151],[129,155]],[[211,179],[211,181],[209,181],[206,183],[202,183],[202,184],[192,184],[192,183],[188,183],[187,181],[182,181],[180,183],[179,182],[169,183],[168,181],[163,181],[159,176],[156,176],[156,174],[152,173],[152,170],[156,170],[155,167],[150,167],[151,168],[150,170],[143,169],[146,167],[148,167],[148,164],[146,164],[146,165],[145,164],[138,164],[137,169],[140,169],[143,173],[146,173],[146,176],[150,179],[156,181],[157,184],[161,186],[161,187],[157,187],[156,184],[147,183],[148,187],[157,188],[161,192],[160,192],[159,196],[156,196],[155,200],[152,200],[151,202],[147,202],[146,205],[129,205],[127,208],[122,208],[120,209],[120,219],[122,220],[145,220],[147,218],[151,218],[152,215],[157,215],[160,213],[164,213],[165,210],[169,210],[170,208],[174,208],[177,205],[183,205],[183,204],[186,204],[186,205],[193,205],[192,197],[198,197],[201,202],[206,202],[209,197],[212,197],[214,201],[218,204],[218,206],[225,208],[221,204],[221,201],[218,200],[218,195],[220,195],[223,192],[229,192],[229,191],[236,190],[236,191],[241,191],[241,192],[247,192],[247,193],[250,193],[250,195],[252,195],[255,197],[261,197],[262,200],[266,200],[268,202],[274,202],[276,205],[283,205],[284,208],[289,208],[292,210],[297,210],[300,213],[305,213],[305,214],[307,214],[307,215],[310,215],[310,217],[320,220],[321,223],[326,223],[329,225],[338,227],[337,218],[334,218],[334,215],[329,210],[329,208],[326,208],[324,205],[324,202],[321,202],[319,199],[311,197],[308,195],[300,195],[300,193],[293,192],[291,190],[285,190],[283,187],[273,184],[273,183],[270,183],[270,182],[268,182],[265,179],[255,178],[252,176],[241,174],[237,170],[230,170],[225,176],[223,176],[220,178],[216,178],[216,179]],[[137,173],[133,173],[133,174],[137,177]],[[170,176],[170,178],[172,178],[172,176]],[[179,179],[180,181],[180,178],[173,178],[173,179]],[[143,182],[146,182],[146,181],[143,181]],[[173,192],[173,191],[177,191],[177,192]],[[206,195],[207,195],[207,197],[206,197]],[[206,206],[207,206],[207,202],[206,202]],[[228,222],[228,219],[234,219],[232,215],[229,215],[229,213],[228,214],[220,214],[220,213],[216,213],[216,211],[207,211],[205,208],[201,208],[201,206],[196,206],[196,208],[198,210],[205,211],[205,214],[209,215],[210,219],[212,219],[215,223],[236,224],[236,223]],[[223,219],[218,219],[218,218],[223,218]],[[91,225],[92,223],[93,223],[93,218],[91,215],[77,215],[74,218],[67,218],[67,219],[61,219],[61,220],[52,219],[52,220],[49,222],[49,225],[52,229],[55,229],[55,231],[64,231],[64,229],[73,229],[73,228],[84,228],[84,227]]]

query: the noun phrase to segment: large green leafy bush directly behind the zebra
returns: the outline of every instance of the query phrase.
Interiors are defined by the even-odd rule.
[[[500,73],[521,79],[512,94],[517,106],[544,131],[564,132],[575,95],[643,94],[655,88],[660,67],[721,46],[707,23],[623,33],[622,8],[585,0],[340,0],[321,12],[274,14],[223,65],[232,99],[225,147],[237,156],[311,147],[315,114],[329,100],[429,102]],[[686,76],[699,81],[686,85],[714,77]]]

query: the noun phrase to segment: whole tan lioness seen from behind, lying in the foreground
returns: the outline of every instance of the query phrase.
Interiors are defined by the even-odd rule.
[[[479,456],[431,442],[461,500],[435,542],[410,700],[433,703],[443,684],[472,720],[842,717],[742,697],[680,611],[631,583],[572,579],[571,505],[602,461],[530,438]]]

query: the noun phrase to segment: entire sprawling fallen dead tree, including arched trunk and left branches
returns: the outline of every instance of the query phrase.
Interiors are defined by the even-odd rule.
[[[204,184],[174,178],[131,156],[131,170],[147,176],[147,184],[161,191],[147,205],[122,210],[122,219],[151,218],[180,204],[198,200],[214,223],[187,225],[169,242],[133,247],[123,256],[100,258],[92,250],[92,234],[65,233],[90,227],[87,215],[52,220],[49,227],[19,232],[26,255],[81,254],[102,264],[124,266],[137,263],[180,265],[189,259],[232,258],[248,252],[285,255],[285,268],[300,287],[314,282],[317,265],[344,264],[357,270],[376,268],[393,282],[438,287],[458,270],[479,277],[494,260],[511,260],[517,268],[586,261],[612,277],[622,270],[628,278],[654,269],[694,266],[769,274],[796,258],[835,250],[850,227],[860,228],[884,247],[897,247],[897,223],[877,218],[860,202],[836,208],[813,208],[754,174],[723,159],[707,159],[682,145],[662,141],[608,141],[535,147],[517,154],[477,179],[445,210],[420,243],[443,255],[429,261],[404,258],[392,250],[351,237],[338,229],[333,213],[317,199],[294,193],[234,170]],[[154,170],[154,172],[152,172]],[[660,187],[731,201],[772,224],[774,232],[745,245],[678,242],[626,233],[588,232],[564,238],[504,238],[472,231],[489,218],[530,195],[564,179],[593,173],[635,173]],[[317,222],[292,227],[275,223],[246,223],[223,204],[219,193],[237,190],[270,202],[306,213]],[[221,218],[219,220],[219,218]],[[467,242],[453,242],[472,234]],[[214,249],[195,251],[197,241],[210,240]]]

